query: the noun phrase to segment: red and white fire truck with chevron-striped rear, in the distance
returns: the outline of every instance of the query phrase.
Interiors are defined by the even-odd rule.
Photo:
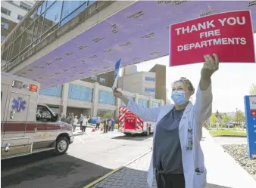
[[[144,122],[141,118],[130,112],[126,107],[119,107],[118,131],[123,134],[149,135],[155,130],[155,122]]]

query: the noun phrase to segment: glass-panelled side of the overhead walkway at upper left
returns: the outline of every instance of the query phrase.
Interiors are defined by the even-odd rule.
[[[2,45],[2,60],[7,63],[16,60],[93,2],[95,1],[42,1],[36,4],[27,18],[5,40]],[[11,11],[3,8],[1,12],[11,14]]]

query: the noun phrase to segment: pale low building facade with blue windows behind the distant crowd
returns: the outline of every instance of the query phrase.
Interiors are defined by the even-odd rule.
[[[139,105],[146,104],[147,107],[164,105],[164,100],[157,100],[138,93],[123,91],[123,94],[133,98]],[[119,106],[124,105],[120,99],[113,96],[112,88],[81,80],[41,90],[39,103],[52,107],[58,106],[59,112],[64,114],[72,111],[76,116],[79,116],[81,112],[86,116],[109,113],[110,116],[115,117],[117,117]],[[58,112],[58,109],[55,109],[55,112]]]

